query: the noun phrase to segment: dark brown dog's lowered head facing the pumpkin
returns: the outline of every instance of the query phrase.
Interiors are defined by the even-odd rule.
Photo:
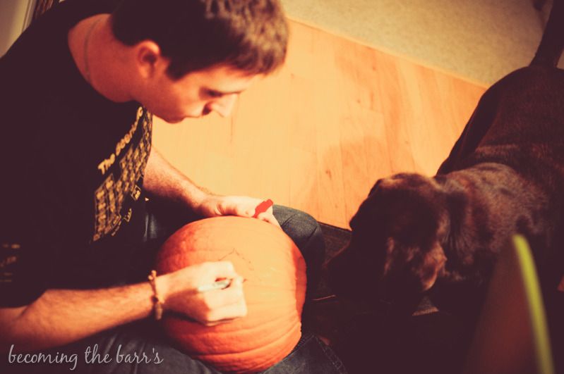
[[[345,299],[413,304],[446,261],[445,194],[418,174],[378,180],[350,222],[352,238],[328,263],[330,285]]]

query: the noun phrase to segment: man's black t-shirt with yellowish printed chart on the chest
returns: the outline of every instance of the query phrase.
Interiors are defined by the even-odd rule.
[[[140,247],[151,115],[95,92],[67,42],[115,2],[64,1],[0,58],[0,306],[123,282]]]

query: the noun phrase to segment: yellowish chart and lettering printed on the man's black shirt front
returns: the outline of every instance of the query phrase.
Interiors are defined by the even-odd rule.
[[[132,142],[139,127],[140,139]],[[126,199],[136,201],[140,197],[141,188],[138,184],[140,178],[143,177],[150,153],[151,131],[152,115],[144,108],[139,108],[135,122],[116,144],[115,152],[98,165],[102,174],[107,173],[116,161],[118,161],[119,168],[109,173],[102,185],[95,191],[95,227],[92,242],[109,234],[115,235],[122,221],[131,220],[131,208],[127,212],[121,212],[121,210]],[[126,151],[122,153],[124,149]]]

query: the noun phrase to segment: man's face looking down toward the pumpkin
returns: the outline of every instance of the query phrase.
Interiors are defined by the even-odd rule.
[[[164,70],[152,80],[141,103],[169,123],[198,118],[212,111],[229,116],[239,94],[256,80],[229,66],[214,66],[172,80]]]

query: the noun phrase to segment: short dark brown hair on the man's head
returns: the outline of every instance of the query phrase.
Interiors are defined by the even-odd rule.
[[[221,63],[249,75],[272,73],[288,39],[278,0],[124,0],[112,30],[126,45],[156,42],[173,79]]]

